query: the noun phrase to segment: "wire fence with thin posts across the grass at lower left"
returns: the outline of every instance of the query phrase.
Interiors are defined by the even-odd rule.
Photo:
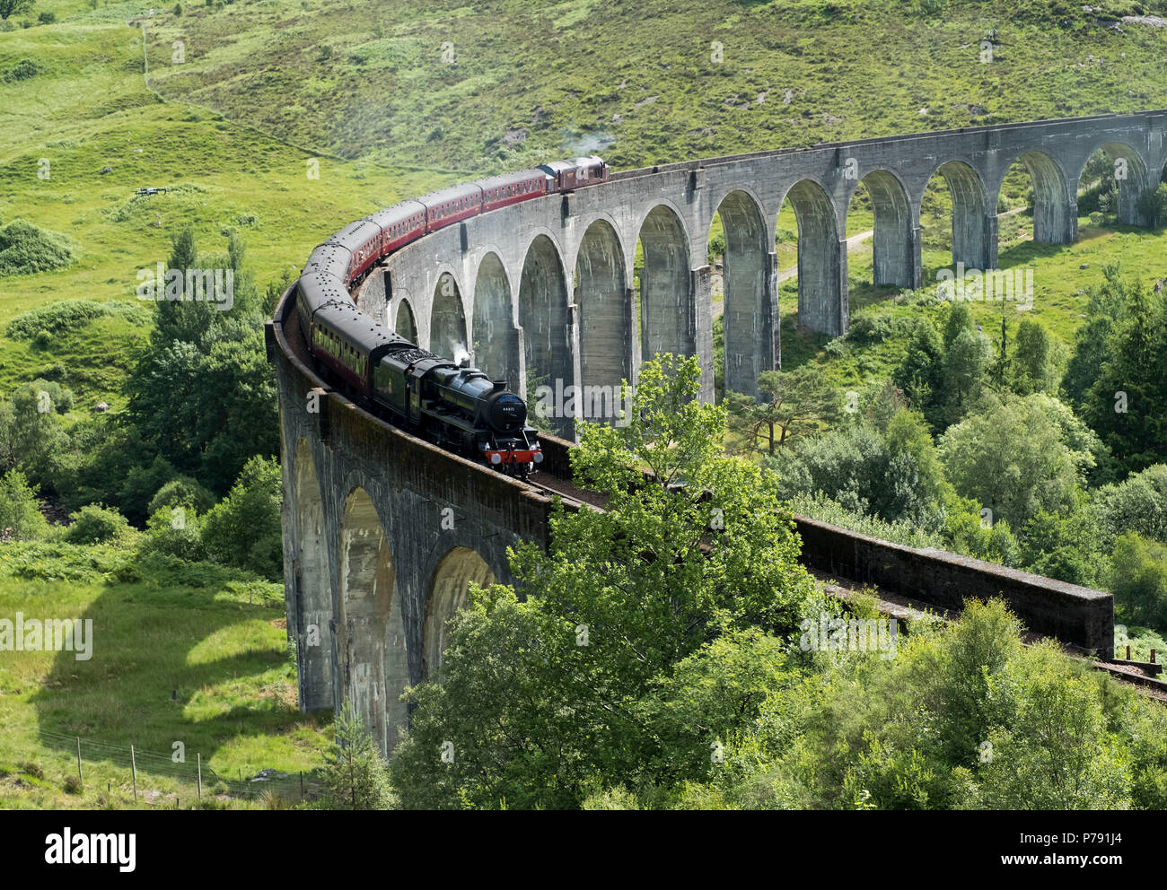
[[[208,800],[223,794],[254,800],[265,793],[275,794],[282,800],[313,800],[319,798],[324,790],[323,783],[314,772],[264,770],[246,778],[242,772],[237,777],[221,776],[202,759],[198,752],[183,752],[176,762],[174,752],[146,751],[133,744],[110,744],[83,736],[51,733],[43,729],[40,731],[40,736],[46,747],[54,749],[62,756],[72,752],[77,775],[83,785],[86,762],[113,766],[117,770],[125,769],[127,778],[133,785],[134,798],[140,798],[146,803],[151,803],[149,798],[154,793],[153,790],[147,793],[147,786],[152,779],[158,778],[166,778],[173,783],[189,786],[193,801]]]

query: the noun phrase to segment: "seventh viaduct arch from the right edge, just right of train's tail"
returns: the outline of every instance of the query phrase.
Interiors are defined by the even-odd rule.
[[[689,269],[689,234],[677,212],[652,208],[640,231],[644,266],[641,272],[641,356],[697,352],[697,317]]]

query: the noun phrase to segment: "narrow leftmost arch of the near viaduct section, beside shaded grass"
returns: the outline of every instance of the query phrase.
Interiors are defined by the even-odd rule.
[[[333,586],[329,583],[324,507],[312,447],[302,436],[295,446],[293,517],[296,553],[293,558],[296,670],[300,708],[322,710],[335,705],[333,678]]]

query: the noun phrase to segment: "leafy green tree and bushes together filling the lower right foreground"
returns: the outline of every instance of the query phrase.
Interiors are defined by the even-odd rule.
[[[391,768],[404,806],[1167,805],[1158,705],[1023,646],[1001,602],[914,624],[890,651],[804,651],[797,619],[833,611],[753,539],[767,475],[704,450],[719,419],[670,388],[684,367],[648,371],[637,420],[587,432],[575,467],[613,509],[558,516],[546,554],[520,547],[525,600],[475,593],[441,685],[411,691]],[[731,587],[722,553],[756,586]]]

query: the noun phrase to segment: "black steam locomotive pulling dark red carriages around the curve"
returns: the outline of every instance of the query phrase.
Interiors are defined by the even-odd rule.
[[[526,404],[469,362],[419,348],[359,309],[351,289],[406,244],[470,217],[523,201],[606,182],[595,155],[453,185],[350,223],[308,258],[296,282],[296,314],[316,370],[378,416],[428,442],[526,478],[543,462]]]

